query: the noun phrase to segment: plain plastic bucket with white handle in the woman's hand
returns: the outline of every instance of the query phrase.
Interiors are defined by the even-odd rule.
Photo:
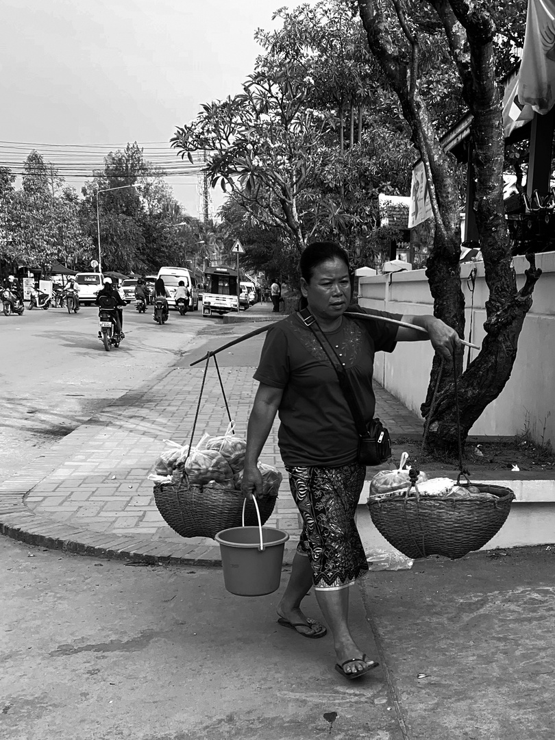
[[[223,585],[237,596],[265,596],[280,586],[283,549],[289,534],[280,529],[263,527],[258,504],[258,527],[245,527],[245,502],[243,502],[243,527],[223,529],[215,536],[220,545],[223,567]]]

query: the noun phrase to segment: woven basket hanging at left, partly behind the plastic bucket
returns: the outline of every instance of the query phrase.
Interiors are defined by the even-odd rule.
[[[264,524],[274,511],[275,496],[257,499]],[[154,484],[154,500],[169,526],[182,537],[212,537],[223,529],[240,527],[243,494],[235,488],[212,490],[210,485],[181,483]],[[246,502],[245,524],[258,526],[255,505]]]

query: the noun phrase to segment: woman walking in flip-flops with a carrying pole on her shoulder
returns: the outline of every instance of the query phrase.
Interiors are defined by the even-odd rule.
[[[309,322],[316,320],[322,340],[349,374],[366,423],[374,417],[374,352],[391,352],[398,341],[422,340],[426,334],[343,315],[351,303],[351,276],[346,252],[337,243],[306,247],[300,275],[302,307],[309,312],[291,314],[272,328],[255,372],[260,385],[249,417],[242,491],[246,498],[262,494],[258,457],[279,413],[280,454],[303,531],[289,583],[277,605],[277,621],[303,637],[323,637],[326,627],[300,609],[314,587],[332,630],[335,667],[353,679],[378,665],[354,642],[348,623],[349,586],[369,569],[354,522],[366,466],[357,462],[360,437],[334,364]],[[422,326],[443,357],[450,358],[460,348],[454,329],[433,316],[358,310]]]

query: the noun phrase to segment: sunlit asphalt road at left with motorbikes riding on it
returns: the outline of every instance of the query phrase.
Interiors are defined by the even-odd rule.
[[[171,311],[158,326],[152,309],[138,314],[129,305],[125,340],[107,352],[93,306],[71,315],[66,309],[0,313],[0,480],[221,329],[200,311]]]

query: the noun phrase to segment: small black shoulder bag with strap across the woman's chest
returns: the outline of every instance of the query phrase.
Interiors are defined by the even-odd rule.
[[[317,338],[323,351],[326,352],[334,370],[337,373],[339,385],[343,394],[345,395],[346,402],[351,409],[351,414],[354,419],[354,425],[357,428],[359,440],[358,440],[358,451],[357,451],[357,462],[361,465],[380,465],[381,462],[386,462],[391,457],[391,439],[389,432],[386,427],[380,422],[379,419],[372,419],[369,423],[363,418],[360,413],[360,407],[357,403],[357,399],[354,396],[353,387],[349,380],[349,375],[343,368],[343,364],[337,352],[333,346],[329,343],[326,334],[323,333],[320,326],[318,326],[317,320],[312,316],[309,309],[303,309],[298,312],[301,320],[305,326],[307,326]]]

